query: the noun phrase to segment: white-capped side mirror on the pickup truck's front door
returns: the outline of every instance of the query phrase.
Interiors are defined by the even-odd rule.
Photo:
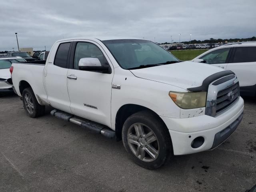
[[[98,58],[81,58],[78,63],[78,69],[83,71],[97,71],[102,73],[111,74],[109,65],[101,65]]]

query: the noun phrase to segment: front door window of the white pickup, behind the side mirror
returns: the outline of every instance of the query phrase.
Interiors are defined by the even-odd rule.
[[[76,44],[74,69],[78,69],[78,63],[81,58],[98,58],[101,65],[108,65],[108,62],[100,48],[92,43],[78,42]]]

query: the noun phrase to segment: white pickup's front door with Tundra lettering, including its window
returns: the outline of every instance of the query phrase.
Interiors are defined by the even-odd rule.
[[[111,90],[113,66],[95,42],[73,42],[68,70],[68,94],[72,114],[111,127]],[[78,69],[81,58],[98,58],[101,65],[110,65],[111,74]],[[107,58],[107,59],[106,59]],[[72,64],[73,63],[73,64]]]

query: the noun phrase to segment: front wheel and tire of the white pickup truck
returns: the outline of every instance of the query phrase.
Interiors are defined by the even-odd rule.
[[[150,111],[132,114],[122,129],[124,148],[136,164],[157,169],[172,157],[172,141],[165,124]]]

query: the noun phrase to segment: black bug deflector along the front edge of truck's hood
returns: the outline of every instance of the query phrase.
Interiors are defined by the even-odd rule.
[[[208,76],[207,78],[205,78],[201,86],[199,86],[199,87],[187,88],[187,90],[192,91],[192,92],[196,92],[196,91],[208,91],[208,87],[209,87],[209,85],[210,85],[213,81],[215,81],[215,80],[217,80],[217,79],[219,79],[219,78],[222,78],[222,77],[224,77],[224,76],[228,76],[228,75],[234,75],[234,72],[227,70],[227,71],[220,71],[220,72],[218,72],[218,73],[214,73],[214,74]]]

